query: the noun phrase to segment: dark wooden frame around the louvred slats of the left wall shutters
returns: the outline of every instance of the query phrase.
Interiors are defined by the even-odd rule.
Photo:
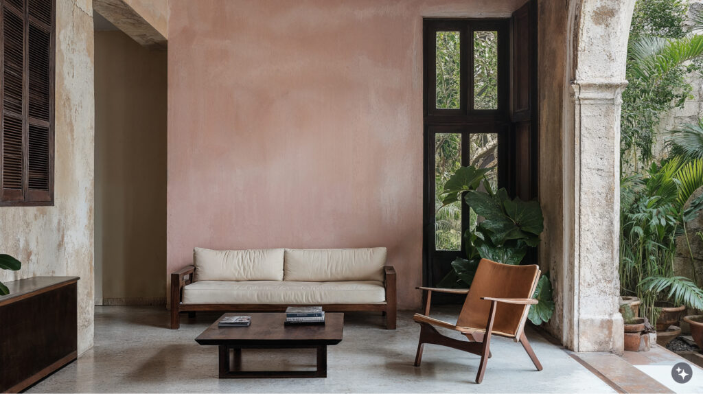
[[[42,1],[45,3],[42,4]],[[18,9],[15,4],[22,3],[23,9]],[[49,24],[47,24],[41,18],[37,18],[37,6],[49,5],[51,7],[51,15],[48,17]],[[55,156],[55,145],[54,145],[54,127],[55,127],[55,103],[56,103],[56,92],[55,92],[55,79],[56,79],[56,0],[0,0],[0,62],[3,65],[3,70],[0,72],[0,93],[3,98],[2,104],[0,105],[0,122],[3,125],[3,131],[5,130],[5,114],[6,108],[5,102],[5,49],[6,49],[6,37],[5,37],[5,12],[14,13],[16,16],[22,18],[22,114],[16,114],[15,112],[8,111],[8,113],[13,113],[15,117],[21,117],[22,120],[22,189],[17,188],[5,188],[4,187],[4,132],[0,133],[0,206],[53,206],[54,205],[54,156]],[[32,10],[34,10],[34,15],[32,15]],[[44,9],[46,11],[46,8]],[[40,14],[41,15],[41,14]],[[46,17],[45,14],[43,14]],[[30,47],[30,26],[34,31],[37,29],[41,32],[48,33],[49,35],[49,108],[48,108],[48,120],[38,119],[37,117],[30,117],[30,100],[32,103],[40,103],[32,96],[30,93],[30,57],[34,56],[37,58],[37,50],[34,48],[34,54],[31,53],[32,47]],[[46,69],[44,69],[46,70]],[[42,70],[43,71],[43,70]],[[36,108],[39,108],[37,106]],[[32,145],[30,141],[30,126],[37,128],[46,128],[46,138],[42,139],[42,143],[46,143],[48,152],[46,152],[46,172],[41,173],[46,174],[46,189],[44,188],[30,188],[30,146],[37,149],[37,146]],[[36,129],[35,129],[36,130]],[[43,149],[42,149],[43,150]],[[41,162],[40,162],[41,163]],[[33,163],[37,165],[37,162]]]

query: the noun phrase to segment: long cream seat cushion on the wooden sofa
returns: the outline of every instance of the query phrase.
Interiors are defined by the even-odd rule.
[[[323,305],[382,303],[382,282],[221,282],[204,280],[183,287],[183,303]]]

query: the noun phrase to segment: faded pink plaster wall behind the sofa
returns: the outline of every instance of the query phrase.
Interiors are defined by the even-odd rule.
[[[522,3],[170,1],[167,273],[193,247],[384,246],[419,306],[423,17]]]

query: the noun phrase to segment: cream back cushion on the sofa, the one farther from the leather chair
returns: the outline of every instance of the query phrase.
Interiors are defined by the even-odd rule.
[[[193,249],[195,281],[283,280],[283,249]]]

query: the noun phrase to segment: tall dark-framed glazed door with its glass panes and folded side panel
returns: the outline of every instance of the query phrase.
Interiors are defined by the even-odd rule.
[[[537,197],[536,1],[506,19],[423,21],[423,284],[435,287],[465,256],[477,217],[438,195],[459,166],[489,168],[494,188]],[[536,263],[536,256],[526,261]],[[451,302],[443,298],[433,301]]]

